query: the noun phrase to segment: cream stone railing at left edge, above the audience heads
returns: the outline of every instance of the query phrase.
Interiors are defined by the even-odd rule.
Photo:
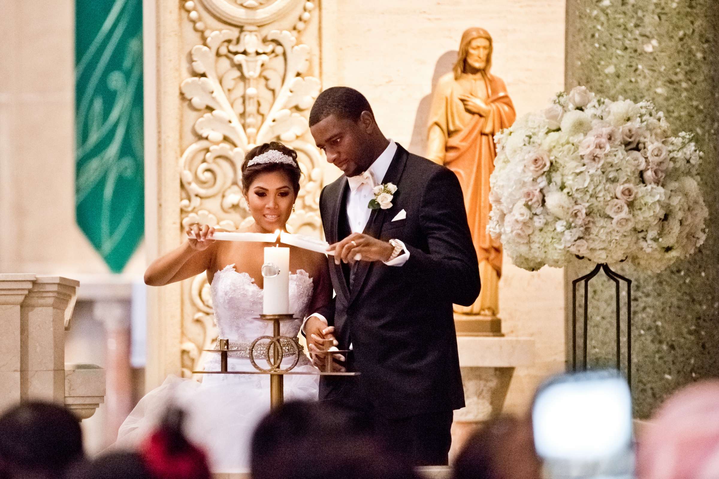
[[[65,365],[79,285],[61,276],[0,274],[0,409],[45,399],[87,419],[104,401],[104,369]]]

